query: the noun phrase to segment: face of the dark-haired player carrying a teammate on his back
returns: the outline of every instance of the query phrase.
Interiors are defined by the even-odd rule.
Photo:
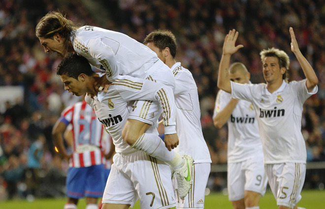
[[[72,92],[73,95],[81,96],[87,92],[86,86],[83,82],[66,75],[60,75],[62,83],[65,85],[65,90]]]

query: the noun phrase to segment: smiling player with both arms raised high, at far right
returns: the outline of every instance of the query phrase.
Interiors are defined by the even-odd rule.
[[[252,102],[259,124],[265,171],[279,209],[297,208],[306,174],[306,146],[301,134],[303,103],[318,90],[318,79],[301,54],[293,29],[291,50],[306,76],[288,83],[289,57],[279,49],[262,50],[263,76],[266,84],[237,84],[229,80],[230,57],[243,45],[235,46],[238,32],[226,35],[219,66],[218,88],[235,99]]]

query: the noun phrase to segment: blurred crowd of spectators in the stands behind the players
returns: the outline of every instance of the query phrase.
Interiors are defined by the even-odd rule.
[[[0,1],[0,87],[24,90],[23,98],[2,101],[0,199],[65,192],[67,163],[56,154],[51,131],[61,111],[79,98],[64,91],[56,75],[61,59],[46,55],[34,35],[39,19],[51,10],[63,12],[78,25],[120,31],[139,42],[153,30],[171,30],[177,39],[176,60],[192,72],[197,84],[201,124],[213,164],[227,163],[227,125],[217,129],[212,123],[227,31],[239,31],[237,42],[244,45],[231,61],[243,62],[251,81],[260,83],[264,79],[259,53],[271,47],[288,53],[290,80],[304,78],[290,48],[292,27],[319,79],[319,91],[306,101],[302,117],[307,161],[325,161],[325,0],[94,0],[92,6],[84,2]],[[224,174],[211,176],[212,189],[226,186]],[[51,191],[45,183],[53,184]]]

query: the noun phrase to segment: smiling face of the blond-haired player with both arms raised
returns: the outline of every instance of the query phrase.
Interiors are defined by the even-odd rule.
[[[282,80],[282,75],[286,72],[286,68],[280,68],[279,60],[276,57],[266,57],[263,60],[263,76],[266,83],[273,83]]]

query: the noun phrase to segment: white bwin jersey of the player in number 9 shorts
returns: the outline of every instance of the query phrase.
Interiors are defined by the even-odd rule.
[[[219,90],[213,118],[227,106],[230,100],[230,93]],[[227,120],[227,125],[228,162],[235,163],[252,157],[263,157],[258,121],[256,120],[254,106],[251,102],[239,100],[230,118]]]

